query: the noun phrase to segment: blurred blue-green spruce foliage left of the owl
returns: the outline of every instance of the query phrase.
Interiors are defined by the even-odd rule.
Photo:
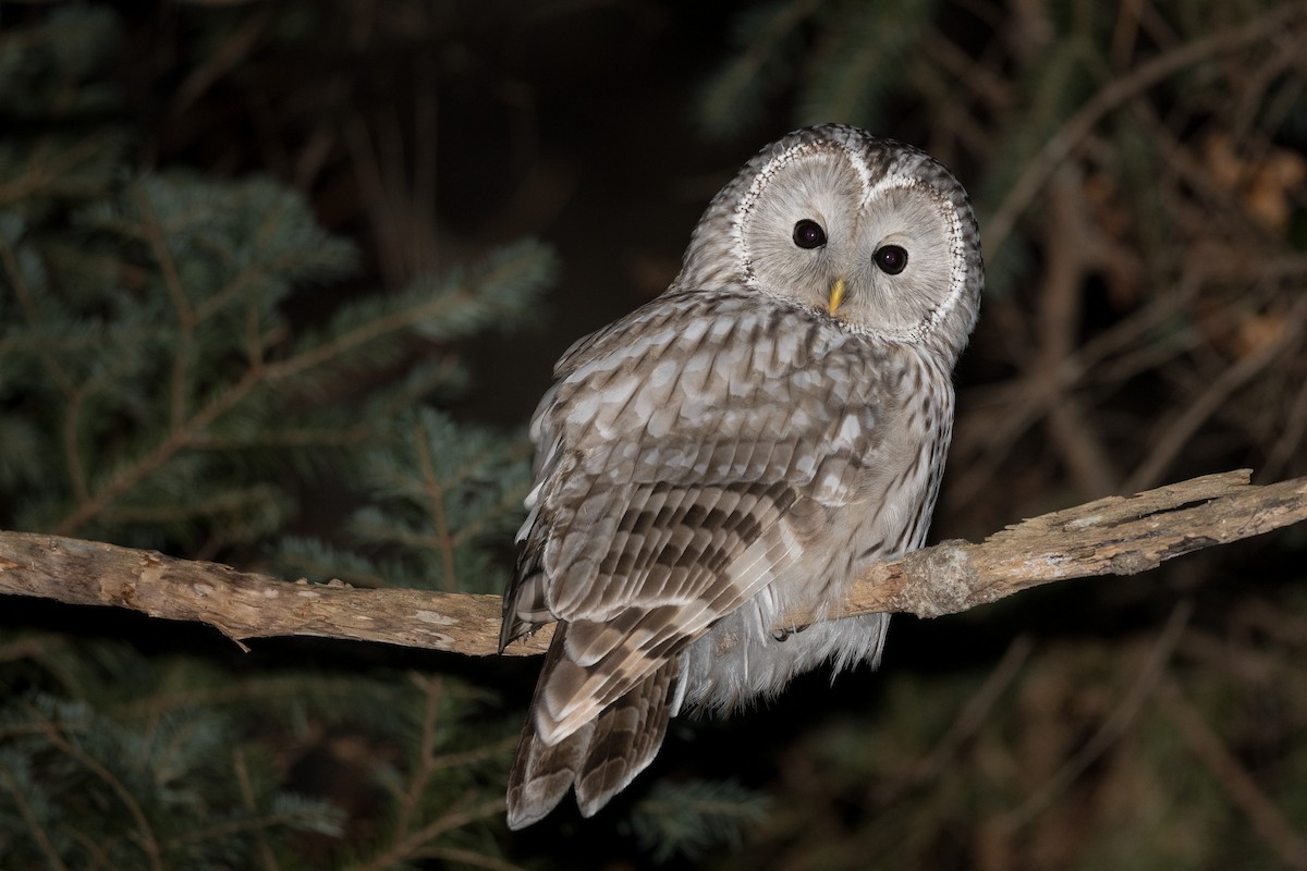
[[[358,252],[297,192],[133,168],[111,12],[33,18],[0,33],[0,524],[315,580],[502,588],[527,445],[433,402],[468,383],[455,342],[537,303],[550,251],[344,293]],[[315,494],[367,507],[332,545],[293,538]],[[0,864],[498,862],[515,718],[491,695],[122,633],[139,644],[0,639]]]

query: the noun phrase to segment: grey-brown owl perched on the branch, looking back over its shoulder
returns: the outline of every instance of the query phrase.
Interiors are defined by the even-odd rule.
[[[983,282],[948,170],[812,127],[714,197],[664,294],[563,354],[531,424],[503,599],[501,649],[558,624],[512,828],[569,789],[595,814],[681,712],[874,666],[889,615],[840,619],[839,603],[869,563],[923,545]]]

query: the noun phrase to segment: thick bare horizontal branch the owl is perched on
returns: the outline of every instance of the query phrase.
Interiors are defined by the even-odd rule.
[[[979,545],[948,541],[878,563],[852,585],[839,614],[955,614],[1052,581],[1134,575],[1180,554],[1307,520],[1307,478],[1259,487],[1248,483],[1249,475],[1227,471],[1110,496],[1014,524]],[[0,531],[0,593],[208,623],[237,644],[311,635],[488,656],[499,637],[498,595],[288,582],[157,551],[33,533]],[[816,619],[821,616],[792,614],[783,623]],[[514,642],[507,653],[544,652],[552,628]]]

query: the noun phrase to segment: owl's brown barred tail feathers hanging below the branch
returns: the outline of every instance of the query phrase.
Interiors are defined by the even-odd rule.
[[[667,734],[672,697],[680,675],[680,657],[638,683],[557,744],[546,744],[536,731],[535,708],[541,688],[562,658],[567,626],[558,624],[532,699],[532,713],[521,727],[518,755],[508,773],[508,828],[520,829],[542,819],[576,787],[576,804],[592,816],[654,760]]]

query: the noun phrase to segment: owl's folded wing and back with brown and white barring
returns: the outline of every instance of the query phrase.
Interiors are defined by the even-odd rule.
[[[664,295],[574,346],[532,422],[537,487],[503,642],[566,639],[533,704],[555,744],[789,571],[865,498],[878,367],[757,294]]]

